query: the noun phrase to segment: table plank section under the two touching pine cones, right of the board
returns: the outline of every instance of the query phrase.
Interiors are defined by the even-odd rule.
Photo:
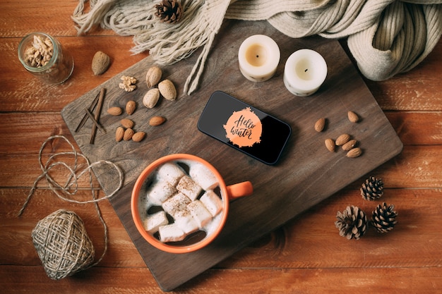
[[[369,228],[360,240],[347,240],[339,235],[334,225],[338,211],[356,205],[371,215],[382,202],[394,204],[398,212],[398,224],[393,231],[380,234]],[[373,202],[364,200],[359,190],[343,190],[218,267],[369,268],[424,267],[424,264],[438,267],[442,257],[431,252],[442,245],[438,233],[441,204],[440,189],[386,189],[383,197]],[[423,210],[427,212],[425,216]]]

